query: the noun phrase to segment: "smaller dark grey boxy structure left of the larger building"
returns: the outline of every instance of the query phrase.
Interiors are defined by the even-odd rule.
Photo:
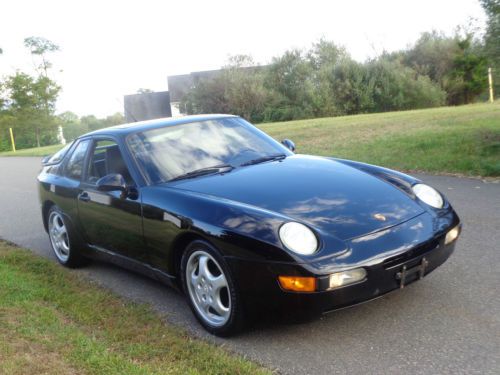
[[[124,105],[127,122],[172,117],[168,91],[125,95]]]

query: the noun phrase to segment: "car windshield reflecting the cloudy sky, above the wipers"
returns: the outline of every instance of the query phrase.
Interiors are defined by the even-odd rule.
[[[218,166],[238,167],[255,164],[258,159],[291,155],[279,142],[239,117],[167,125],[132,134],[127,142],[154,184],[196,176],[192,172],[200,170],[217,172]]]

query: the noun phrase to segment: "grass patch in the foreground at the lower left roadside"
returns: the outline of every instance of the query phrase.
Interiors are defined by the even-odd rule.
[[[264,374],[50,260],[0,241],[1,374]]]

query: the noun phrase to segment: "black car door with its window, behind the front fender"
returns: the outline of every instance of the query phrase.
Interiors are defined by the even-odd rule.
[[[138,186],[120,150],[111,138],[97,138],[87,158],[78,195],[78,215],[87,241],[101,249],[146,262],[142,232],[142,211]],[[118,173],[132,194],[97,190],[96,182]]]

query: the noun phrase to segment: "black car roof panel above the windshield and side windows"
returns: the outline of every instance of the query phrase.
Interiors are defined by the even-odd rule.
[[[208,121],[208,120],[228,118],[228,117],[237,117],[237,116],[212,114],[212,115],[192,115],[192,116],[182,116],[182,117],[165,117],[155,120],[138,121],[138,122],[131,122],[128,124],[111,126],[109,128],[103,128],[95,130],[90,133],[86,133],[82,135],[80,138],[87,136],[94,136],[94,135],[127,135],[130,133],[161,128],[164,126],[181,125],[190,122]]]

